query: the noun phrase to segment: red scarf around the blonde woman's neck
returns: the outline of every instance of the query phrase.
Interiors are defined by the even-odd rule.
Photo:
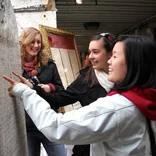
[[[24,60],[22,63],[22,68],[27,72],[29,77],[36,76],[38,74],[37,57],[35,57],[32,62],[26,62]]]

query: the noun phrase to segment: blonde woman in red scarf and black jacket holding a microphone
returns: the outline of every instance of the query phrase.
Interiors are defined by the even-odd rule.
[[[39,30],[26,28],[20,35],[22,75],[33,85],[42,88],[44,94],[63,90],[56,64],[43,52],[44,45]],[[57,108],[55,109],[57,110]],[[50,142],[34,125],[26,113],[26,128],[29,156],[40,156],[43,144],[48,156],[65,156],[63,144]]]

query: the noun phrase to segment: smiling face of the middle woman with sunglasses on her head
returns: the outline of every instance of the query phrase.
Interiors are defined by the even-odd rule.
[[[108,59],[111,53],[104,48],[103,40],[93,40],[89,44],[89,60],[96,70],[103,70],[108,73]]]

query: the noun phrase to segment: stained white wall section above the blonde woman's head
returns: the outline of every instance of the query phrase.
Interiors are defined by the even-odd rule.
[[[39,24],[57,27],[55,0],[11,0],[11,3],[19,35],[26,27],[38,29]]]

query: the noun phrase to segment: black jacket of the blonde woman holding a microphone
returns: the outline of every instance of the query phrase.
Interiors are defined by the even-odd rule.
[[[26,79],[30,79],[30,77],[24,70],[22,72],[22,75]],[[37,78],[40,81],[40,83],[42,83],[42,84],[52,83],[53,85],[55,85],[55,88],[56,88],[55,92],[64,90],[64,87],[63,87],[60,75],[58,73],[56,64],[53,62],[52,59],[48,60],[48,65],[41,65],[39,67]],[[45,92],[41,87],[38,86],[38,88],[40,88],[40,90],[41,90],[40,96],[42,96],[42,94],[44,96],[47,94],[49,95],[49,93]],[[42,97],[44,98],[44,96],[42,96]],[[33,121],[31,120],[31,118],[28,116],[27,113],[26,113],[26,127],[27,127],[27,130],[28,129],[37,130],[36,126],[34,125]]]

